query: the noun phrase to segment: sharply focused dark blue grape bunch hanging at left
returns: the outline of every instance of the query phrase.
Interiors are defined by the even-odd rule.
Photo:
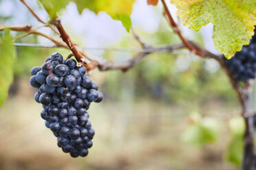
[[[39,88],[34,99],[43,104],[41,117],[57,137],[58,147],[74,158],[87,156],[94,137],[87,110],[92,101],[103,99],[98,85],[84,66],[76,66],[72,58],[63,60],[61,53],[53,53],[41,67],[34,66],[31,75],[31,86]]]

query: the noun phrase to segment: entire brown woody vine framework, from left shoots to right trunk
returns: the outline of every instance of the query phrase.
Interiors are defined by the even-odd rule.
[[[158,52],[158,51],[167,51],[168,53],[172,53],[173,50],[178,49],[189,49],[191,53],[195,53],[200,58],[213,58],[216,60],[220,66],[222,67],[224,73],[228,77],[229,82],[231,83],[233,90],[235,90],[235,93],[237,94],[237,99],[239,101],[239,104],[241,106],[242,110],[242,117],[244,118],[246,130],[244,133],[244,158],[243,158],[243,170],[253,170],[255,166],[255,155],[254,155],[254,128],[253,128],[253,112],[248,108],[248,102],[250,100],[250,97],[248,97],[248,94],[250,93],[250,78],[252,78],[250,75],[246,77],[246,80],[241,80],[241,77],[234,76],[234,73],[231,71],[231,69],[228,67],[226,62],[231,62],[230,65],[232,65],[233,60],[224,60],[223,56],[217,56],[214,53],[211,53],[210,51],[204,49],[204,47],[201,47],[200,45],[195,44],[194,42],[191,42],[189,40],[186,40],[184,36],[182,35],[181,30],[178,27],[178,24],[175,23],[173,20],[173,17],[171,16],[171,12],[169,11],[169,8],[167,7],[167,4],[164,0],[162,0],[162,4],[164,5],[164,14],[167,17],[167,21],[169,21],[169,25],[173,28],[173,31],[178,34],[180,37],[180,40],[182,41],[179,45],[169,45],[167,47],[152,47],[150,45],[147,45],[147,43],[143,42],[140,37],[134,33],[134,38],[139,42],[141,45],[142,51],[136,53],[134,58],[131,58],[127,61],[123,62],[115,62],[115,61],[109,61],[105,60],[103,58],[98,58],[95,56],[87,56],[85,52],[79,48],[78,45],[74,44],[72,40],[70,39],[70,36],[65,32],[65,29],[63,25],[61,24],[61,19],[58,17],[55,17],[50,23],[52,25],[45,24],[43,20],[39,18],[39,16],[30,8],[30,6],[25,2],[25,0],[21,0],[21,2],[28,8],[28,10],[32,13],[32,15],[39,21],[40,23],[43,23],[44,27],[50,27],[59,37],[50,36],[47,34],[44,34],[43,32],[39,32],[38,30],[34,29],[30,25],[25,26],[15,26],[15,25],[0,25],[0,31],[8,28],[15,32],[26,32],[28,34],[37,34],[39,36],[43,36],[49,40],[52,40],[56,47],[64,47],[66,49],[70,49],[72,53],[74,54],[74,57],[78,62],[81,64],[86,64],[87,71],[98,69],[100,71],[107,71],[112,69],[119,69],[121,71],[128,71],[129,69],[133,68],[138,64],[141,60],[144,60],[150,53]],[[56,28],[55,28],[55,27]],[[21,37],[23,38],[23,37]],[[237,57],[235,57],[237,58]],[[239,81],[244,82],[245,86],[240,86]]]

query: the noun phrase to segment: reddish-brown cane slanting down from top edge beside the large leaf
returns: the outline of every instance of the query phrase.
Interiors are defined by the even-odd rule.
[[[195,49],[193,47],[193,45],[191,45],[191,43],[188,40],[186,40],[186,38],[184,38],[184,36],[182,35],[182,32],[180,31],[177,23],[175,23],[175,21],[173,20],[173,17],[171,16],[171,12],[169,11],[169,8],[167,7],[167,3],[165,3],[164,0],[161,0],[161,1],[162,1],[162,5],[164,5],[164,13],[167,16],[167,19],[168,19],[171,27],[173,27],[173,31],[176,32],[180,36],[180,39],[182,40],[184,45],[186,45],[186,47],[188,47],[188,49],[190,51],[197,54],[198,56],[202,56],[201,51],[198,51],[197,49]]]

